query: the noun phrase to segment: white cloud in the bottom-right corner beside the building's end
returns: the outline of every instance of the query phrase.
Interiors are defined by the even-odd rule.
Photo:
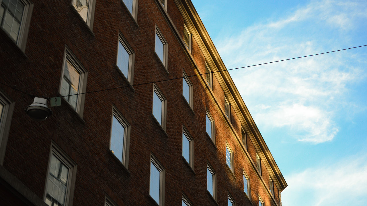
[[[308,168],[285,178],[288,187],[281,193],[285,206],[364,206],[367,201],[366,155]]]

